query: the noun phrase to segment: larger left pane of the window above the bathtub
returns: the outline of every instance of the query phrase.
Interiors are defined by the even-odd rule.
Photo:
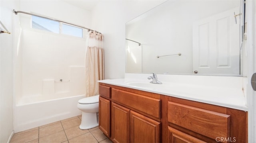
[[[32,16],[32,28],[60,33],[59,25],[59,22],[48,20],[46,18],[40,18],[38,16]]]

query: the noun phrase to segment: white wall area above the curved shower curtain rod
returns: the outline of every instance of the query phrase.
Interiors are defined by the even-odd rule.
[[[62,0],[21,0],[20,10],[90,27],[91,15],[89,11]],[[22,16],[26,15],[22,14]]]

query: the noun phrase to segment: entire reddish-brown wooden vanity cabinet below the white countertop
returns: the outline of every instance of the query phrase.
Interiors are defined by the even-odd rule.
[[[100,83],[99,128],[113,142],[246,143],[247,112]]]

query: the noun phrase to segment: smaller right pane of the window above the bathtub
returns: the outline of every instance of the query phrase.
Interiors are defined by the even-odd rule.
[[[70,25],[66,25],[66,24],[62,24],[62,34],[72,35],[72,36],[76,36],[76,37],[83,37],[83,29],[74,27],[74,26],[70,26]]]

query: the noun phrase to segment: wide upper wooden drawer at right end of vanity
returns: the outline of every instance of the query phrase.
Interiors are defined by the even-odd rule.
[[[201,108],[168,102],[168,122],[211,139],[230,136],[230,116]]]

